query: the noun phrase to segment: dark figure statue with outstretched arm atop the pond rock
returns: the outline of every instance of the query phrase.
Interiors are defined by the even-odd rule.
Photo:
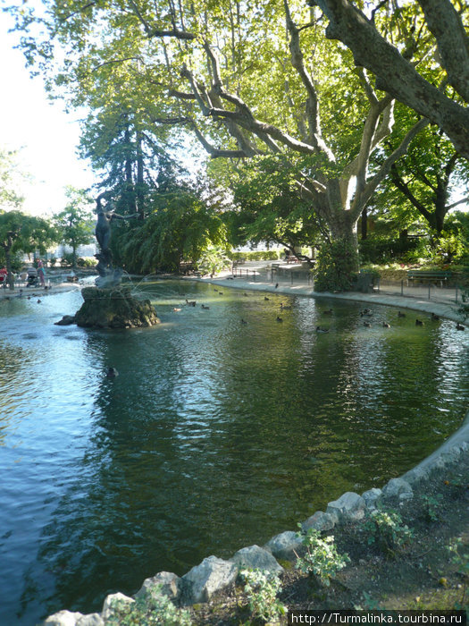
[[[132,219],[132,217],[138,217],[138,213],[132,216],[120,216],[114,213],[113,209],[108,209],[107,206],[103,207],[102,199],[104,199],[106,193],[101,193],[96,198],[96,241],[99,244],[99,252],[96,252],[95,258],[97,258],[96,270],[99,276],[96,278],[96,286],[101,289],[107,287],[116,287],[121,283],[122,270],[120,267],[113,267],[113,253],[109,248],[111,241],[111,222],[113,219]]]

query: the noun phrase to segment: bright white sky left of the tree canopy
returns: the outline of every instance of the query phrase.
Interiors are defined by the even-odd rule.
[[[47,99],[40,78],[31,79],[21,52],[14,49],[17,35],[8,33],[9,16],[0,11],[0,146],[19,150],[23,172],[32,177],[21,185],[21,210],[46,216],[65,207],[65,185],[86,188],[94,176],[76,155],[80,127],[63,104]]]

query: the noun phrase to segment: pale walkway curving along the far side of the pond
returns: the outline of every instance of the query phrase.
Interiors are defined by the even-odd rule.
[[[379,292],[314,292],[312,281],[309,282],[305,274],[302,275],[295,266],[281,266],[284,270],[282,275],[275,275],[270,264],[265,262],[246,263],[238,268],[238,276],[230,278],[230,273],[219,275],[214,278],[190,278],[203,283],[220,284],[234,289],[250,289],[263,292],[280,292],[291,295],[303,295],[311,298],[332,298],[339,300],[356,300],[372,304],[384,304],[398,309],[411,309],[434,313],[440,317],[446,317],[457,322],[464,323],[464,317],[457,313],[461,302],[461,295],[456,289],[431,286],[405,287],[401,283],[387,283],[381,285]],[[297,270],[297,271],[296,271]],[[291,272],[291,274],[289,274]],[[278,286],[276,286],[278,285]],[[430,299],[429,299],[430,294]],[[458,301],[456,301],[456,297]]]

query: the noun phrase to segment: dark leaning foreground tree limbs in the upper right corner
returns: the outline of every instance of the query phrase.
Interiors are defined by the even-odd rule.
[[[398,0],[358,4],[349,0],[308,0],[328,20],[327,38],[347,46],[356,65],[373,72],[376,89],[437,124],[456,151],[469,158],[469,7],[461,0]],[[364,6],[367,12],[364,12]],[[381,19],[381,13],[385,19]],[[410,13],[410,19],[402,20]],[[401,37],[389,29],[399,21]],[[440,80],[421,63],[418,37],[431,34],[427,54]],[[393,37],[394,35],[394,37]]]

